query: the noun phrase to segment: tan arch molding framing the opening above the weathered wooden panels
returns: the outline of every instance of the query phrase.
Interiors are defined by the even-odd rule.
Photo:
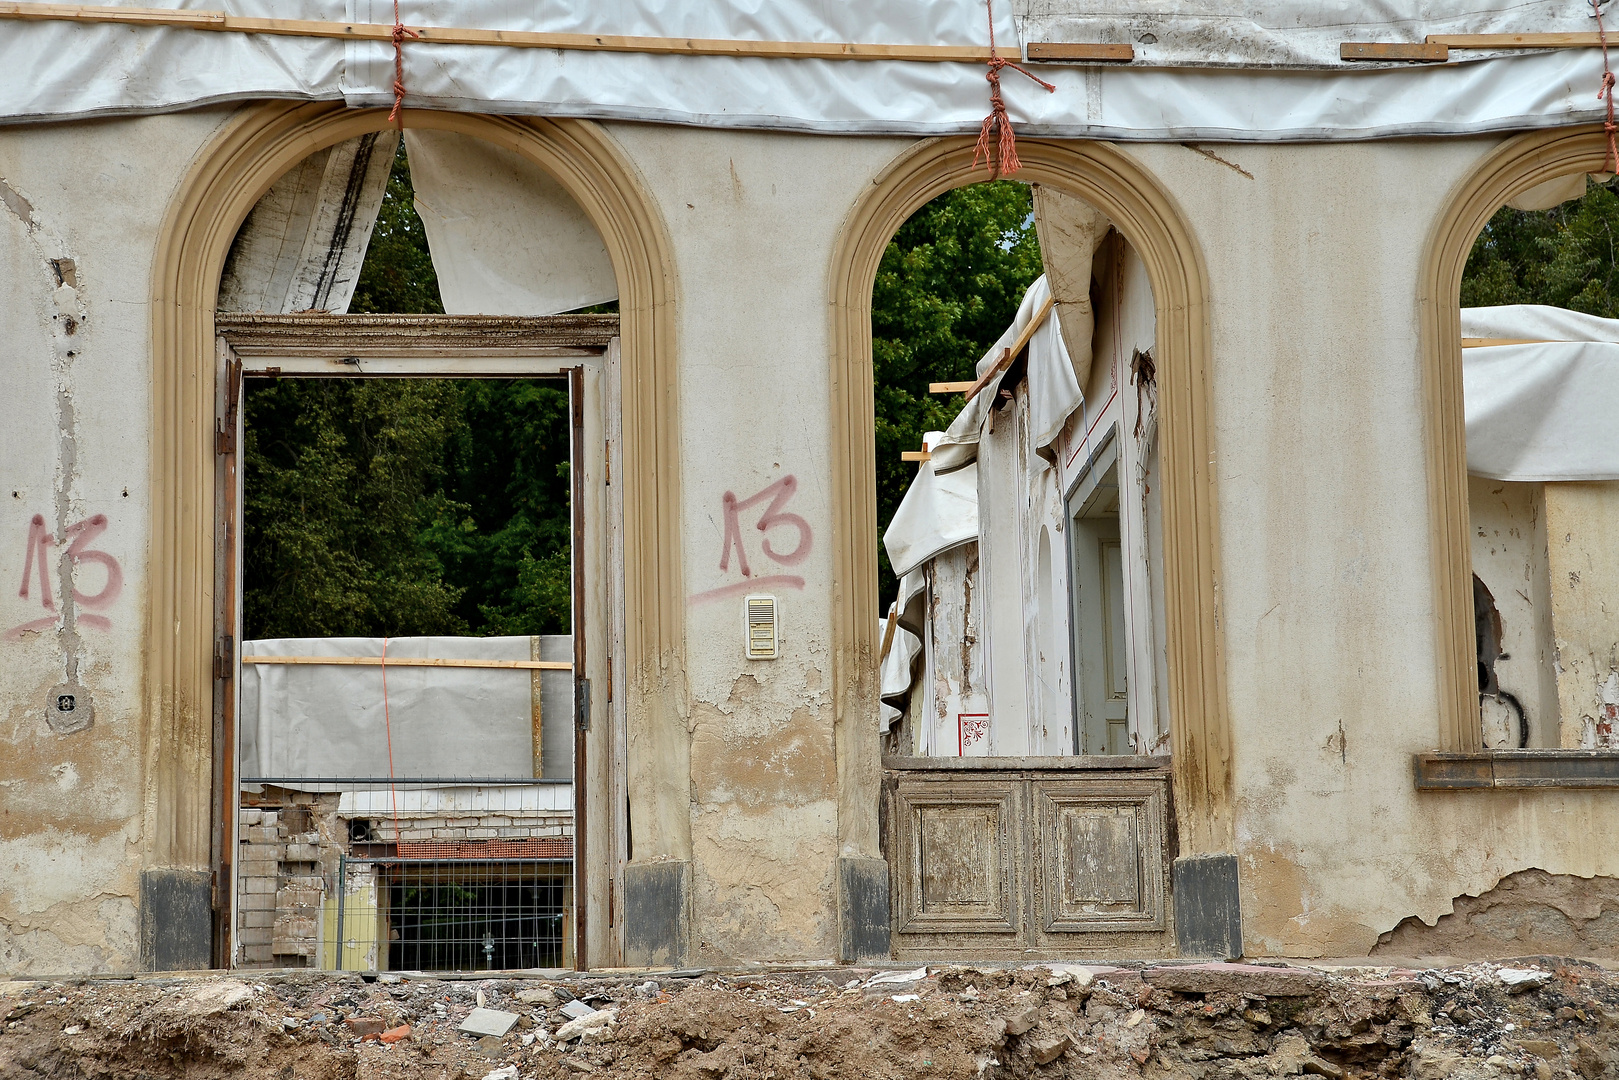
[[[918,144],[873,180],[843,223],[832,261],[834,662],[840,767],[839,832],[847,855],[877,855],[881,763],[876,730],[877,610],[871,288],[899,227],[928,199],[984,180],[973,139]],[[1106,142],[1020,139],[1013,175],[1103,210],[1141,256],[1158,314],[1162,423],[1164,591],[1175,814],[1182,853],[1227,852],[1230,727],[1217,622],[1217,521],[1209,466],[1208,272],[1169,193]]]

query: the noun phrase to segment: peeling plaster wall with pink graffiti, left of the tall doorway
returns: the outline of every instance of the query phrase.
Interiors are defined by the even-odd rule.
[[[5,973],[138,963],[152,253],[223,117],[0,130]]]

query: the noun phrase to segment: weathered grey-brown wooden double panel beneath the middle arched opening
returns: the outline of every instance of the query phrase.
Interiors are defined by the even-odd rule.
[[[1114,758],[1148,767],[1075,769],[968,761],[981,767],[887,763],[884,844],[897,959],[1174,952],[1169,772],[1158,767],[1167,763]],[[894,767],[900,763],[915,767]]]

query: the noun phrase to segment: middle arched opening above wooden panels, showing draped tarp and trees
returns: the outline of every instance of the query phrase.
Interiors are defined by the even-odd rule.
[[[873,334],[886,751],[1166,753],[1141,259],[1054,188],[957,188],[889,244]]]

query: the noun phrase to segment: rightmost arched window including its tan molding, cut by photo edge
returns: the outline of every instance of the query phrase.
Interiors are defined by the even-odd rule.
[[[1443,750],[1616,745],[1619,458],[1603,432],[1619,402],[1608,288],[1619,196],[1591,176],[1604,151],[1588,130],[1507,142],[1457,193],[1430,249]],[[1554,780],[1557,763],[1525,767]]]

